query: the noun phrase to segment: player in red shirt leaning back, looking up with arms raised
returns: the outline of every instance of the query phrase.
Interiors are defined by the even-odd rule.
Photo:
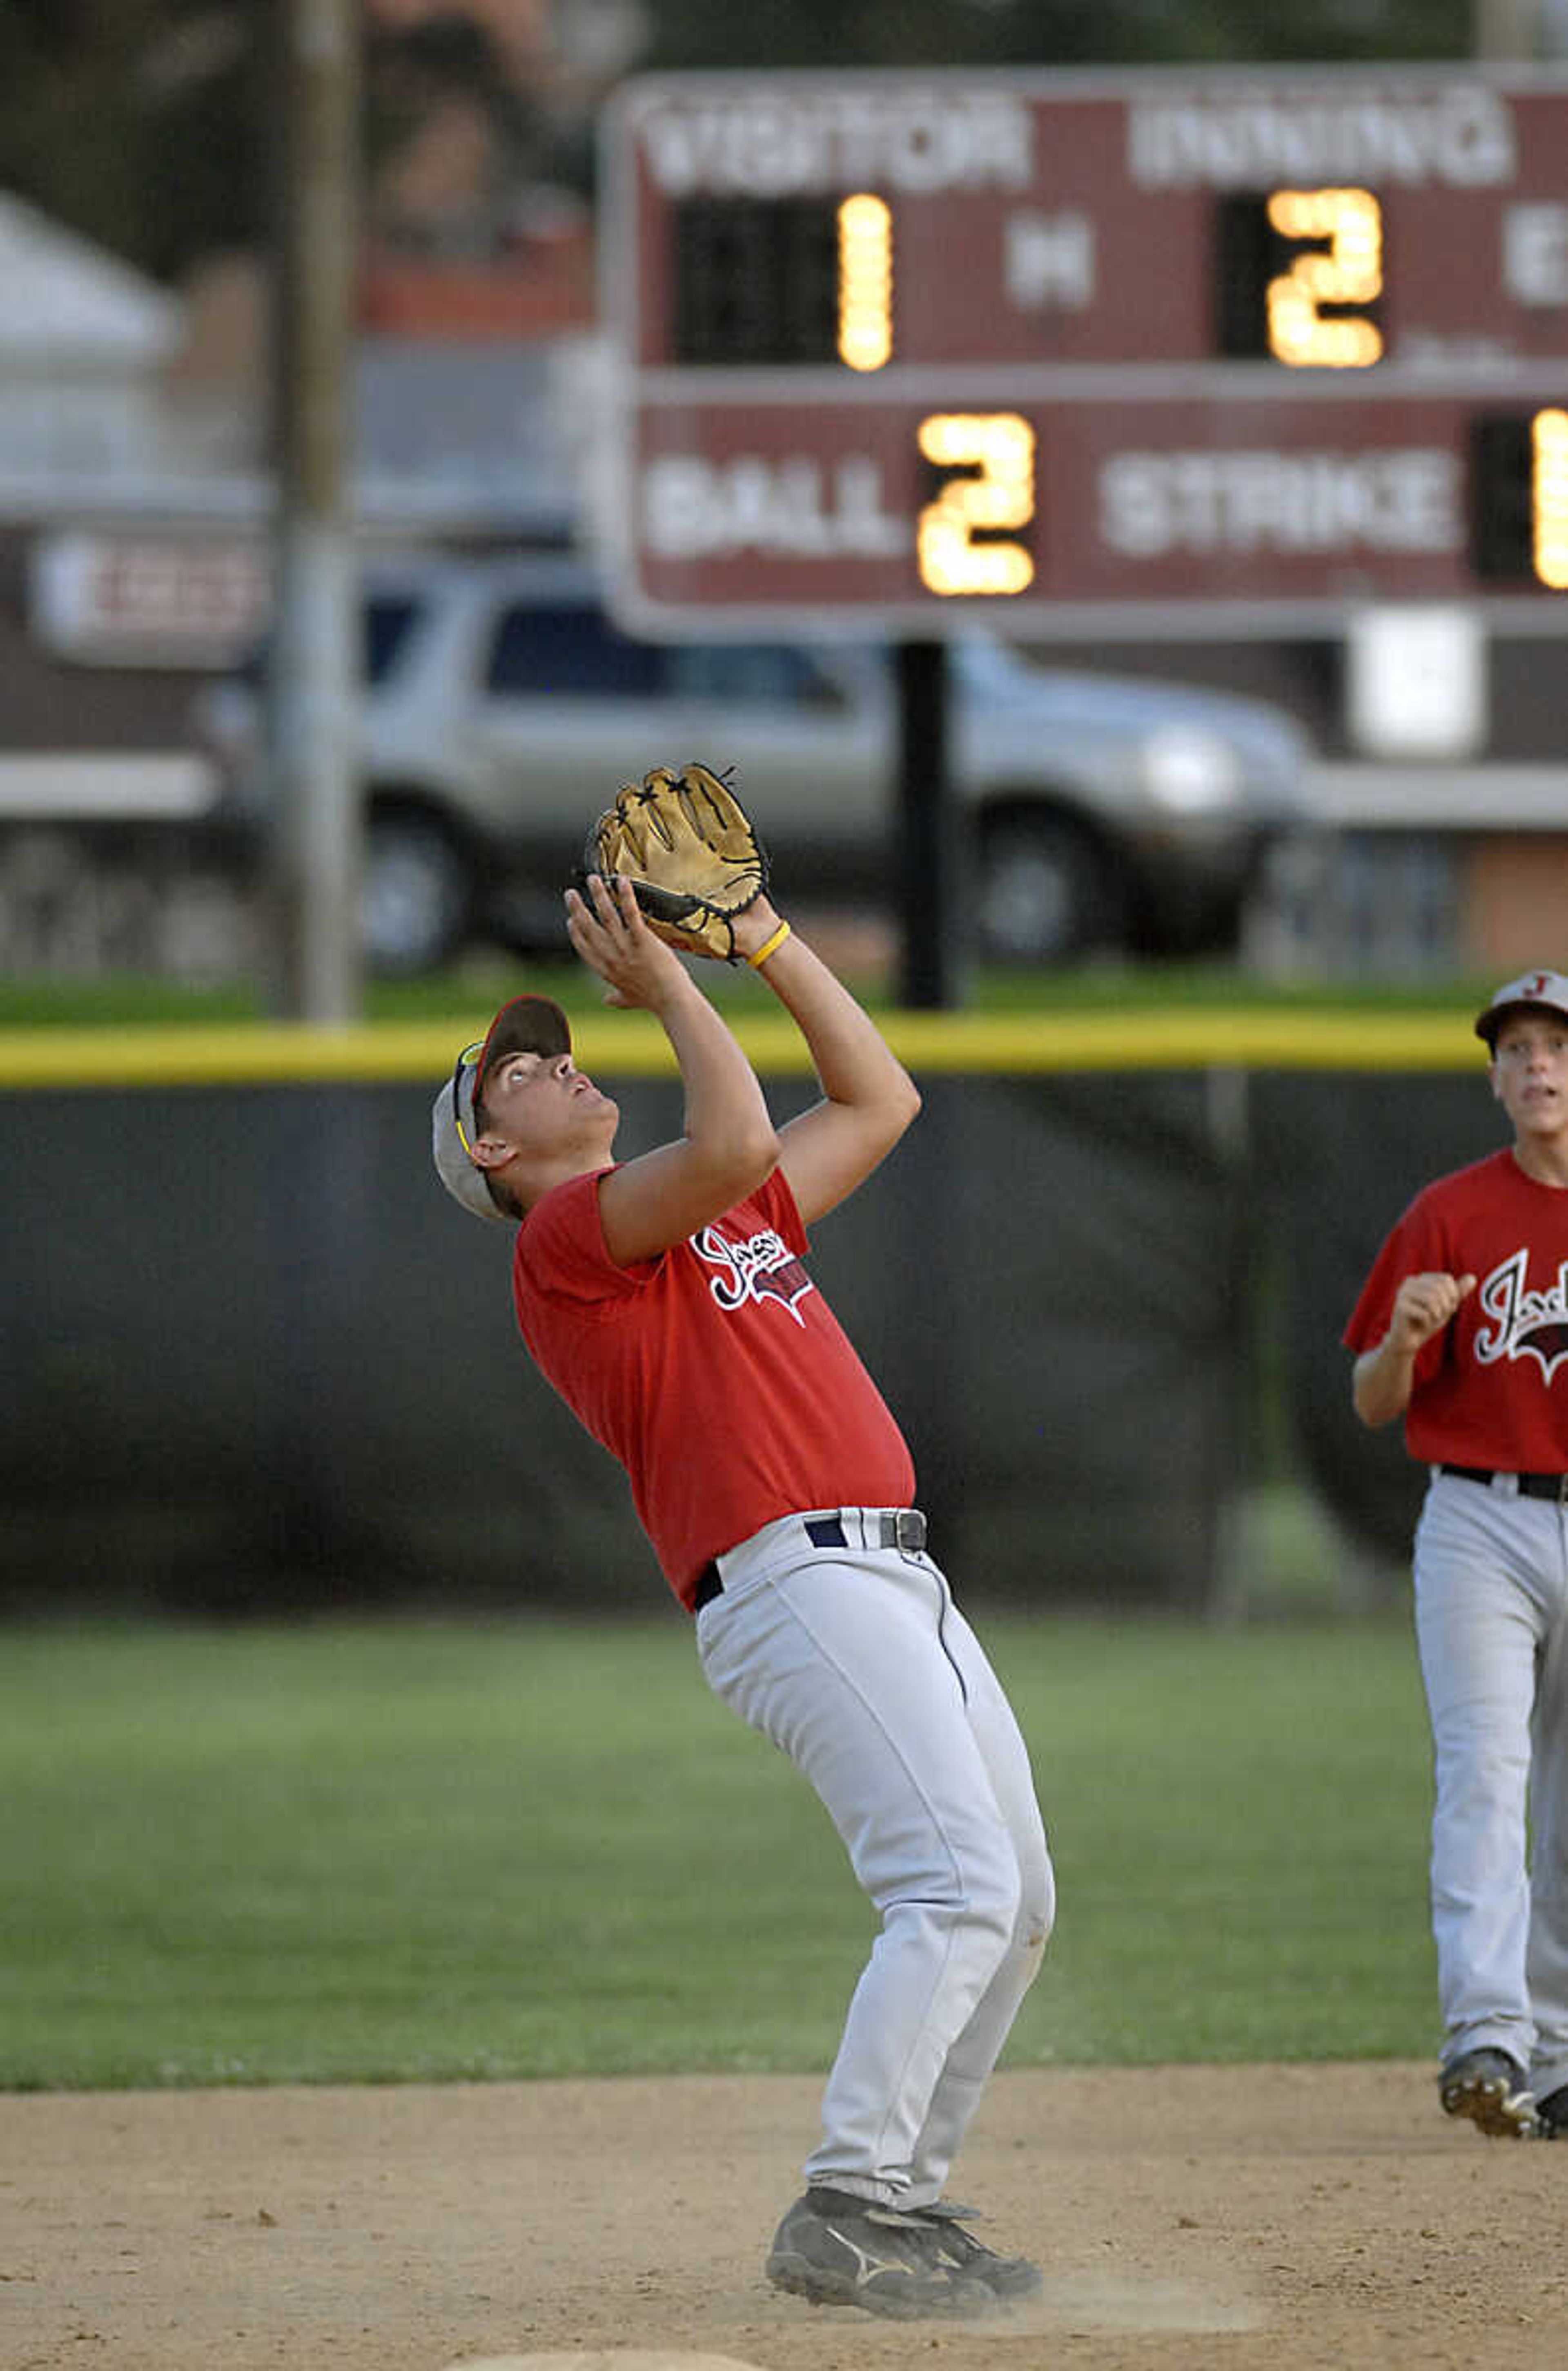
[[[943,2184],[1040,1968],[1052,1864],[1018,1724],[926,1555],[910,1451],[805,1266],[808,1226],[919,1095],[765,896],[737,958],[822,1086],[779,1129],[630,882],[590,875],[566,913],[606,1001],[663,1024],[685,1133],[616,1162],[618,1110],[561,1010],[519,996],[436,1098],[436,1169],[516,1228],[535,1363],[625,1465],[711,1688],[805,1774],[881,1913],[767,2279],[886,2316],[990,2312],[1040,2274],[976,2241]]]

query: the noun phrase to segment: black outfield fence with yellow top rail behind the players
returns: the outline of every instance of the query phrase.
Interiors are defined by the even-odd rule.
[[[661,1048],[595,1027],[621,1150],[675,1131]],[[1355,1425],[1338,1333],[1497,1121],[1464,1024],[1281,1027],[891,1024],[924,1114],[810,1264],[969,1598],[1210,1603],[1279,1425],[1405,1551],[1419,1475]],[[521,1349],[509,1238],[433,1178],[460,1034],[0,1046],[0,1608],[656,1603],[618,1470]],[[786,1038],[753,1053],[786,1117]]]

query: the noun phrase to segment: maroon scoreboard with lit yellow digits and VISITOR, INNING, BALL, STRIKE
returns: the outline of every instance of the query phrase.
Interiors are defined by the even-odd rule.
[[[1568,628],[1568,74],[632,78],[642,633]]]

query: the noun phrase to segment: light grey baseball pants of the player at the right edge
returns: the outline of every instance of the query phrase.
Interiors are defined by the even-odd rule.
[[[1568,2082],[1568,1510],[1433,1475],[1414,1581],[1442,2056],[1509,2051],[1547,2098]]]

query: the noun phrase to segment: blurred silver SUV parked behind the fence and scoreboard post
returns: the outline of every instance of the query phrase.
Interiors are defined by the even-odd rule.
[[[1303,730],[1262,702],[950,645],[950,785],[988,960],[1234,946],[1277,835],[1312,820]],[[230,799],[265,811],[258,671],[199,730]],[[886,882],[900,716],[881,645],[654,645],[568,555],[374,562],[358,759],[365,932],[384,972],[464,939],[561,944],[590,818],[654,763],[737,768],[782,894]]]

